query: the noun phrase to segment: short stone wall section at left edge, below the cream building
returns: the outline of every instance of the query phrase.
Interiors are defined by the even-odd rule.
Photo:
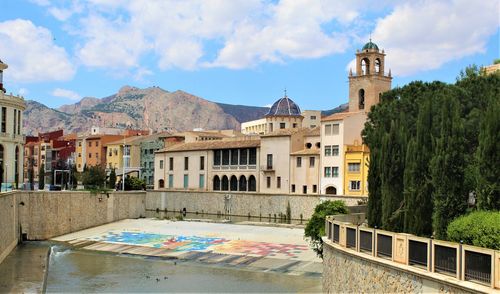
[[[16,194],[0,194],[0,263],[9,255],[18,241]]]

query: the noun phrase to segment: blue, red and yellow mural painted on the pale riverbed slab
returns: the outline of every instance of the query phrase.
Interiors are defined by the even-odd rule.
[[[94,241],[163,248],[172,251],[207,251],[269,257],[298,258],[308,250],[305,245],[278,244],[217,237],[162,235],[144,232],[110,231],[90,238]]]

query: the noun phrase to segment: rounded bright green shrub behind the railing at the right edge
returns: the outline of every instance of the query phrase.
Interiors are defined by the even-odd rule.
[[[500,211],[476,211],[453,220],[447,229],[450,241],[500,250]]]

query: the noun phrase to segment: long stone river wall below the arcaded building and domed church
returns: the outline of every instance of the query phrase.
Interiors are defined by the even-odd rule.
[[[198,192],[198,191],[148,191],[146,210],[229,214],[240,216],[269,217],[286,214],[290,203],[292,219],[309,219],[316,205],[322,200],[343,200],[348,206],[358,204],[365,197],[344,197],[325,195],[276,195],[241,192]]]

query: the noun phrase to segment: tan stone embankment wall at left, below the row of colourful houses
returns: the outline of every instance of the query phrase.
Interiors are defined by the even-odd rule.
[[[46,240],[90,227],[145,216],[145,192],[17,192],[21,230]],[[3,215],[3,214],[2,214]]]

